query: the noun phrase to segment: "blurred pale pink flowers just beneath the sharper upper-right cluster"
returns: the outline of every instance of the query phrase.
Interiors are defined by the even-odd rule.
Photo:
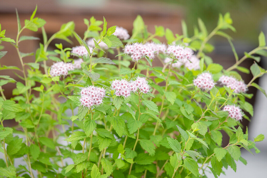
[[[166,57],[164,63],[170,63],[172,61],[171,58]],[[190,60],[183,59],[182,61],[177,61],[176,63],[172,63],[172,67],[180,68],[182,65],[187,67],[189,70],[198,70],[200,69],[200,60],[196,56],[192,56]]]

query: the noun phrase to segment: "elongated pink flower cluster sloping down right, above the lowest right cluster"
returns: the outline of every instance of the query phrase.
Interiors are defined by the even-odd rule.
[[[235,93],[241,93],[241,92],[245,93],[248,90],[244,81],[239,81],[234,77],[223,75],[219,78],[218,81],[221,82],[226,87],[229,87],[232,90],[234,90]]]

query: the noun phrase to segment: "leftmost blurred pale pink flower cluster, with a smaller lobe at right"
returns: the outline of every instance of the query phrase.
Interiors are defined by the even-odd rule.
[[[74,63],[64,63],[63,61],[54,63],[50,68],[50,75],[52,77],[61,76],[64,77],[68,75],[68,71],[73,71],[74,69],[80,69],[83,59],[76,59]]]

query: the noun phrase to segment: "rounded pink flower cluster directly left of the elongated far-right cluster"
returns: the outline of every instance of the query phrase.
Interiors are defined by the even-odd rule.
[[[208,72],[201,73],[196,79],[193,80],[194,86],[201,88],[202,90],[211,90],[214,86],[214,80],[212,75]]]

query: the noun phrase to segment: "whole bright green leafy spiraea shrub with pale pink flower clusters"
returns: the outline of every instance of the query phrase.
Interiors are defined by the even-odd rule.
[[[266,95],[254,83],[266,73],[253,56],[267,56],[262,32],[259,46],[239,59],[223,32],[235,31],[228,13],[219,15],[211,33],[199,19],[192,37],[184,22],[182,35],[162,26],[150,33],[138,16],[132,36],[121,27],[107,28],[105,18],[91,17],[84,19],[82,37],[68,22],[50,38],[45,20],[35,14],[21,23],[17,13],[15,40],[5,37],[0,26],[0,42],[17,49],[22,67],[2,65],[0,70],[14,70],[23,80],[0,76],[0,176],[173,178],[206,177],[211,171],[217,177],[223,167],[236,171],[236,161],[246,164],[241,148],[260,152],[255,143],[264,136],[248,140],[239,121],[249,119],[244,111],[253,116],[245,101],[253,97],[246,93],[249,87]],[[39,28],[44,44],[34,52],[35,61],[25,63],[23,58],[33,53],[21,52],[20,42],[38,38],[21,32]],[[208,42],[214,35],[225,37],[233,49],[236,62],[228,69],[206,55],[213,50]],[[164,36],[166,44],[157,39]],[[56,44],[49,51],[54,39],[79,46]],[[1,60],[8,60],[5,54],[0,52]],[[248,58],[256,61],[250,70],[239,66]],[[162,65],[152,66],[152,61]],[[236,70],[251,72],[253,79],[244,83]],[[7,83],[15,88],[10,99],[2,89]],[[6,127],[3,121],[9,119],[18,125]],[[223,146],[227,138],[221,131],[230,137]]]

